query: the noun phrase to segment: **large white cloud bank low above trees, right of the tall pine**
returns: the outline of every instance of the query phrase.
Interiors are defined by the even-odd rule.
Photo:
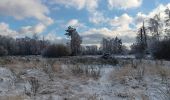
[[[103,37],[114,38],[116,36],[121,38],[125,44],[135,42],[136,31],[130,27],[134,22],[133,17],[124,13],[113,19],[104,18],[104,21],[105,24],[108,24],[108,26],[111,27],[110,29],[108,27],[91,28],[80,33],[83,37],[84,44],[100,44]]]

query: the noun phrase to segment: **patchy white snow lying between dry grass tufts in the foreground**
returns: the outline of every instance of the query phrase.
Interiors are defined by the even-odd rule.
[[[149,60],[142,62],[156,63]],[[163,61],[162,65],[169,64]],[[88,67],[90,71],[91,67],[100,70],[98,79],[86,75],[73,75],[70,68],[74,66],[61,64],[60,72],[51,72],[54,75],[53,80],[50,80],[49,73],[46,73],[43,67],[23,68],[23,74],[19,76],[8,67],[0,67],[0,100],[4,96],[21,96],[25,100],[143,100],[143,98],[167,100],[162,93],[166,91],[166,85],[161,82],[160,77],[145,76],[139,83],[136,79],[126,76],[126,82],[122,84],[110,77],[113,72],[118,72],[122,68],[121,65],[79,65],[83,68]],[[38,80],[40,85],[35,97],[28,95],[32,91],[32,84],[30,84],[32,77]]]

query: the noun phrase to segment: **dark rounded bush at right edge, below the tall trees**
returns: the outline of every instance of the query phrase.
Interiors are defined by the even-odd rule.
[[[170,60],[170,39],[156,42],[152,47],[152,55],[156,59]]]

